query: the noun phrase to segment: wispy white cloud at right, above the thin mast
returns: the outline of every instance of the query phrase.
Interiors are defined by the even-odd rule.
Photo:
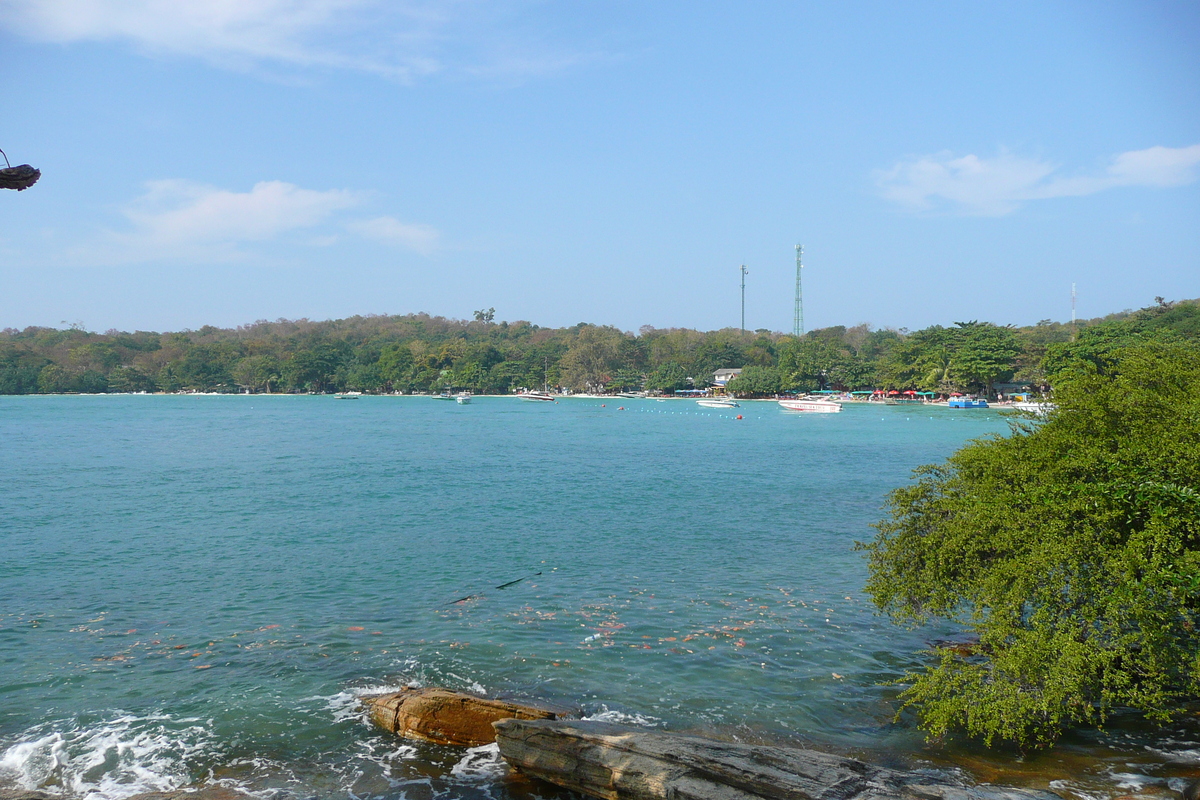
[[[1007,151],[991,158],[940,152],[901,161],[876,180],[883,197],[912,211],[1002,216],[1028,200],[1082,197],[1120,186],[1183,186],[1195,181],[1198,172],[1200,144],[1130,150],[1114,156],[1102,173],[1073,176],[1061,175],[1048,161]]]

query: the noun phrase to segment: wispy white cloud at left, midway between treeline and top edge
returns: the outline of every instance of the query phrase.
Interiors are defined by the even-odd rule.
[[[395,217],[346,219],[365,196],[349,190],[308,190],[262,181],[234,192],[184,180],[146,184],[145,192],[120,211],[127,225],[104,230],[98,240],[70,253],[74,263],[215,263],[270,258],[281,246],[328,247],[336,231],[428,254],[437,229]]]

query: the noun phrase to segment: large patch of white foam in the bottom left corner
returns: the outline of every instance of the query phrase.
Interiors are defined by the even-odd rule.
[[[0,777],[25,789],[92,800],[169,792],[191,783],[190,764],[214,750],[198,722],[121,715],[89,726],[47,723],[4,750]]]

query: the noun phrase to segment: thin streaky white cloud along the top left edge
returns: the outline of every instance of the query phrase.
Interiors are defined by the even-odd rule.
[[[0,28],[43,42],[126,42],[227,68],[325,67],[402,82],[448,71],[511,78],[586,58],[516,32],[506,19],[510,6],[476,0],[0,0]],[[512,49],[522,58],[514,59]]]

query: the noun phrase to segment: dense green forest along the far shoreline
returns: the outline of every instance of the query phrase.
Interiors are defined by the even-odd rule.
[[[964,321],[919,331],[838,325],[802,337],[766,330],[701,332],[604,325],[540,327],[428,314],[329,321],[265,320],[235,329],[154,333],[79,326],[0,331],[0,393],[430,392],[506,393],[542,384],[575,391],[703,387],[742,367],[745,396],[816,389],[896,389],[989,395],[996,384],[1037,389],[1115,348],[1200,339],[1200,301],[1166,302],[1082,320],[1016,327]]]

